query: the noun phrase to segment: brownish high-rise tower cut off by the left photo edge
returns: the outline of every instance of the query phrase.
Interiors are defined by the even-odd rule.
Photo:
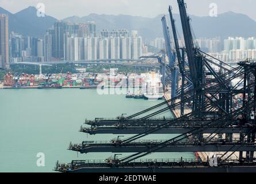
[[[9,29],[8,16],[0,14],[0,67],[9,69]]]

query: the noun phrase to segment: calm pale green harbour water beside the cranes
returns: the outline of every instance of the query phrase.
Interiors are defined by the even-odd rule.
[[[52,172],[56,160],[69,163],[74,159],[105,159],[113,154],[81,155],[67,150],[70,141],[81,143],[116,137],[78,132],[85,118],[133,114],[159,102],[127,99],[125,95],[98,95],[96,90],[0,90],[0,172]],[[170,116],[169,113],[161,114],[164,115]],[[146,137],[169,138],[170,135]],[[44,167],[36,164],[39,152],[45,155]],[[148,158],[181,156],[194,158],[193,153],[151,154]]]

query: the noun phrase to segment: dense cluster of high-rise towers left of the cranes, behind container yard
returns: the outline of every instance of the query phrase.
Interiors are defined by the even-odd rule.
[[[11,62],[139,59],[143,53],[142,46],[142,37],[137,30],[132,30],[131,34],[127,29],[97,32],[92,21],[87,24],[59,21],[46,31],[43,40],[12,32],[10,59]]]

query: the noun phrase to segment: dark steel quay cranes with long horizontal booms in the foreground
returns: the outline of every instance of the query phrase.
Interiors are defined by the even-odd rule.
[[[192,36],[190,18],[184,0],[178,0],[185,47],[175,44],[175,55],[182,76],[182,93],[161,104],[131,116],[113,120],[95,118],[85,121],[80,131],[90,133],[135,134],[110,141],[70,143],[68,150],[81,152],[133,153],[123,158],[117,154],[105,160],[73,160],[56,163],[60,172],[256,172],[255,112],[256,62],[245,60],[238,67],[200,51]],[[170,18],[173,25],[171,7]],[[173,30],[174,27],[173,27]],[[177,36],[174,40],[177,41]],[[176,37],[176,38],[175,38]],[[174,42],[175,42],[174,41]],[[181,51],[181,53],[179,53]],[[218,70],[215,67],[217,66]],[[225,66],[224,66],[225,65]],[[186,79],[185,78],[188,78]],[[231,81],[238,81],[231,83]],[[188,84],[192,83],[192,86]],[[178,86],[178,85],[177,85]],[[242,105],[233,100],[242,97]],[[179,108],[179,117],[156,118]],[[184,108],[190,109],[184,112]],[[142,140],[152,134],[173,134],[169,140]],[[235,137],[235,135],[239,135]],[[143,159],[154,152],[222,152],[202,159]],[[239,155],[236,156],[236,152]],[[135,154],[134,154],[135,153]]]

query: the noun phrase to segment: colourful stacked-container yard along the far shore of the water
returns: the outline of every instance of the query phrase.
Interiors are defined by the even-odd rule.
[[[10,72],[4,76],[1,87],[3,89],[37,89],[38,87],[63,87],[78,89],[97,89],[99,85],[108,87],[142,88],[147,74],[117,74],[82,72],[72,74],[39,74],[22,73],[13,75]],[[131,81],[131,82],[130,82]],[[133,94],[132,94],[133,95]],[[135,94],[136,95],[136,94]]]

